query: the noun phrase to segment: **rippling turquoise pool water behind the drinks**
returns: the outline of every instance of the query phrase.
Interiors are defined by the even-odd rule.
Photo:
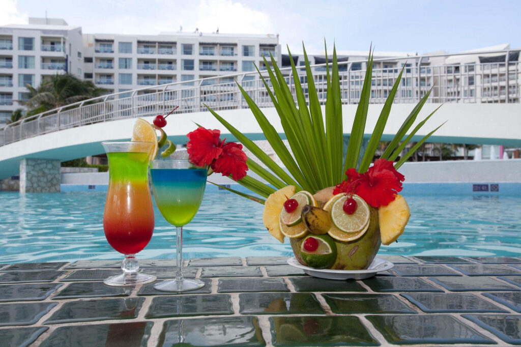
[[[521,197],[407,196],[412,216],[384,255],[519,256]],[[0,193],[0,263],[120,259],[103,232],[104,192]],[[155,208],[145,258],[175,258],[175,228]],[[183,257],[289,256],[289,241],[271,237],[263,205],[207,187],[195,218],[183,228]]]

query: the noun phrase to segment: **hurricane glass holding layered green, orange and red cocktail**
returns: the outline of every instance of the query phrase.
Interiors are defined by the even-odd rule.
[[[155,276],[138,272],[135,254],[144,249],[154,231],[154,207],[148,188],[148,159],[152,142],[103,142],[108,158],[108,192],[103,229],[108,243],[125,255],[122,275],[104,280],[109,286],[149,283]]]

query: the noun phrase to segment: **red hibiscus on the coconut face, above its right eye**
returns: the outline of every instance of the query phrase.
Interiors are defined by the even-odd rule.
[[[402,190],[405,177],[386,159],[378,159],[367,172],[358,173],[355,169],[345,172],[348,179],[338,184],[334,194],[355,193],[373,207],[387,206]]]

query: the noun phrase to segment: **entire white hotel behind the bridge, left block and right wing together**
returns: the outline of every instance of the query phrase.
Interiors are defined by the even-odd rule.
[[[432,86],[431,102],[519,102],[519,49],[510,45],[486,47],[479,54],[430,57],[413,52],[374,52],[371,103],[383,103],[405,65],[395,102],[416,103]],[[486,53],[491,52],[491,53]],[[504,52],[507,52],[506,55]],[[262,55],[274,55],[281,67],[278,35],[219,33],[160,33],[159,35],[84,34],[63,19],[29,18],[29,24],[0,27],[0,128],[27,100],[26,84],[38,86],[46,77],[70,72],[93,81],[108,93],[154,85],[254,72],[265,68]],[[330,52],[331,54],[331,52]],[[367,52],[338,51],[347,103],[357,103],[362,90]],[[304,73],[302,55],[294,55]],[[311,64],[326,62],[325,55],[309,55]],[[508,60],[505,68],[505,60]],[[317,72],[317,89],[325,95],[324,66]],[[288,71],[284,72],[289,75]],[[255,76],[240,76],[241,82]],[[302,77],[305,80],[305,77]],[[349,82],[348,82],[349,80]],[[202,85],[233,82],[232,77],[203,80]],[[189,84],[190,82],[187,82]],[[244,84],[243,84],[244,85]],[[153,93],[153,89],[138,94]],[[122,94],[125,95],[125,94]]]

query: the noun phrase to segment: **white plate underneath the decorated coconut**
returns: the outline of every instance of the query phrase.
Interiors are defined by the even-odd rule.
[[[394,267],[394,264],[388,261],[384,261],[380,258],[375,258],[369,268],[365,270],[330,270],[330,269],[314,269],[309,266],[304,266],[295,257],[288,259],[288,264],[304,270],[309,276],[346,280],[346,279],[364,279],[375,276],[378,272],[387,271]]]

